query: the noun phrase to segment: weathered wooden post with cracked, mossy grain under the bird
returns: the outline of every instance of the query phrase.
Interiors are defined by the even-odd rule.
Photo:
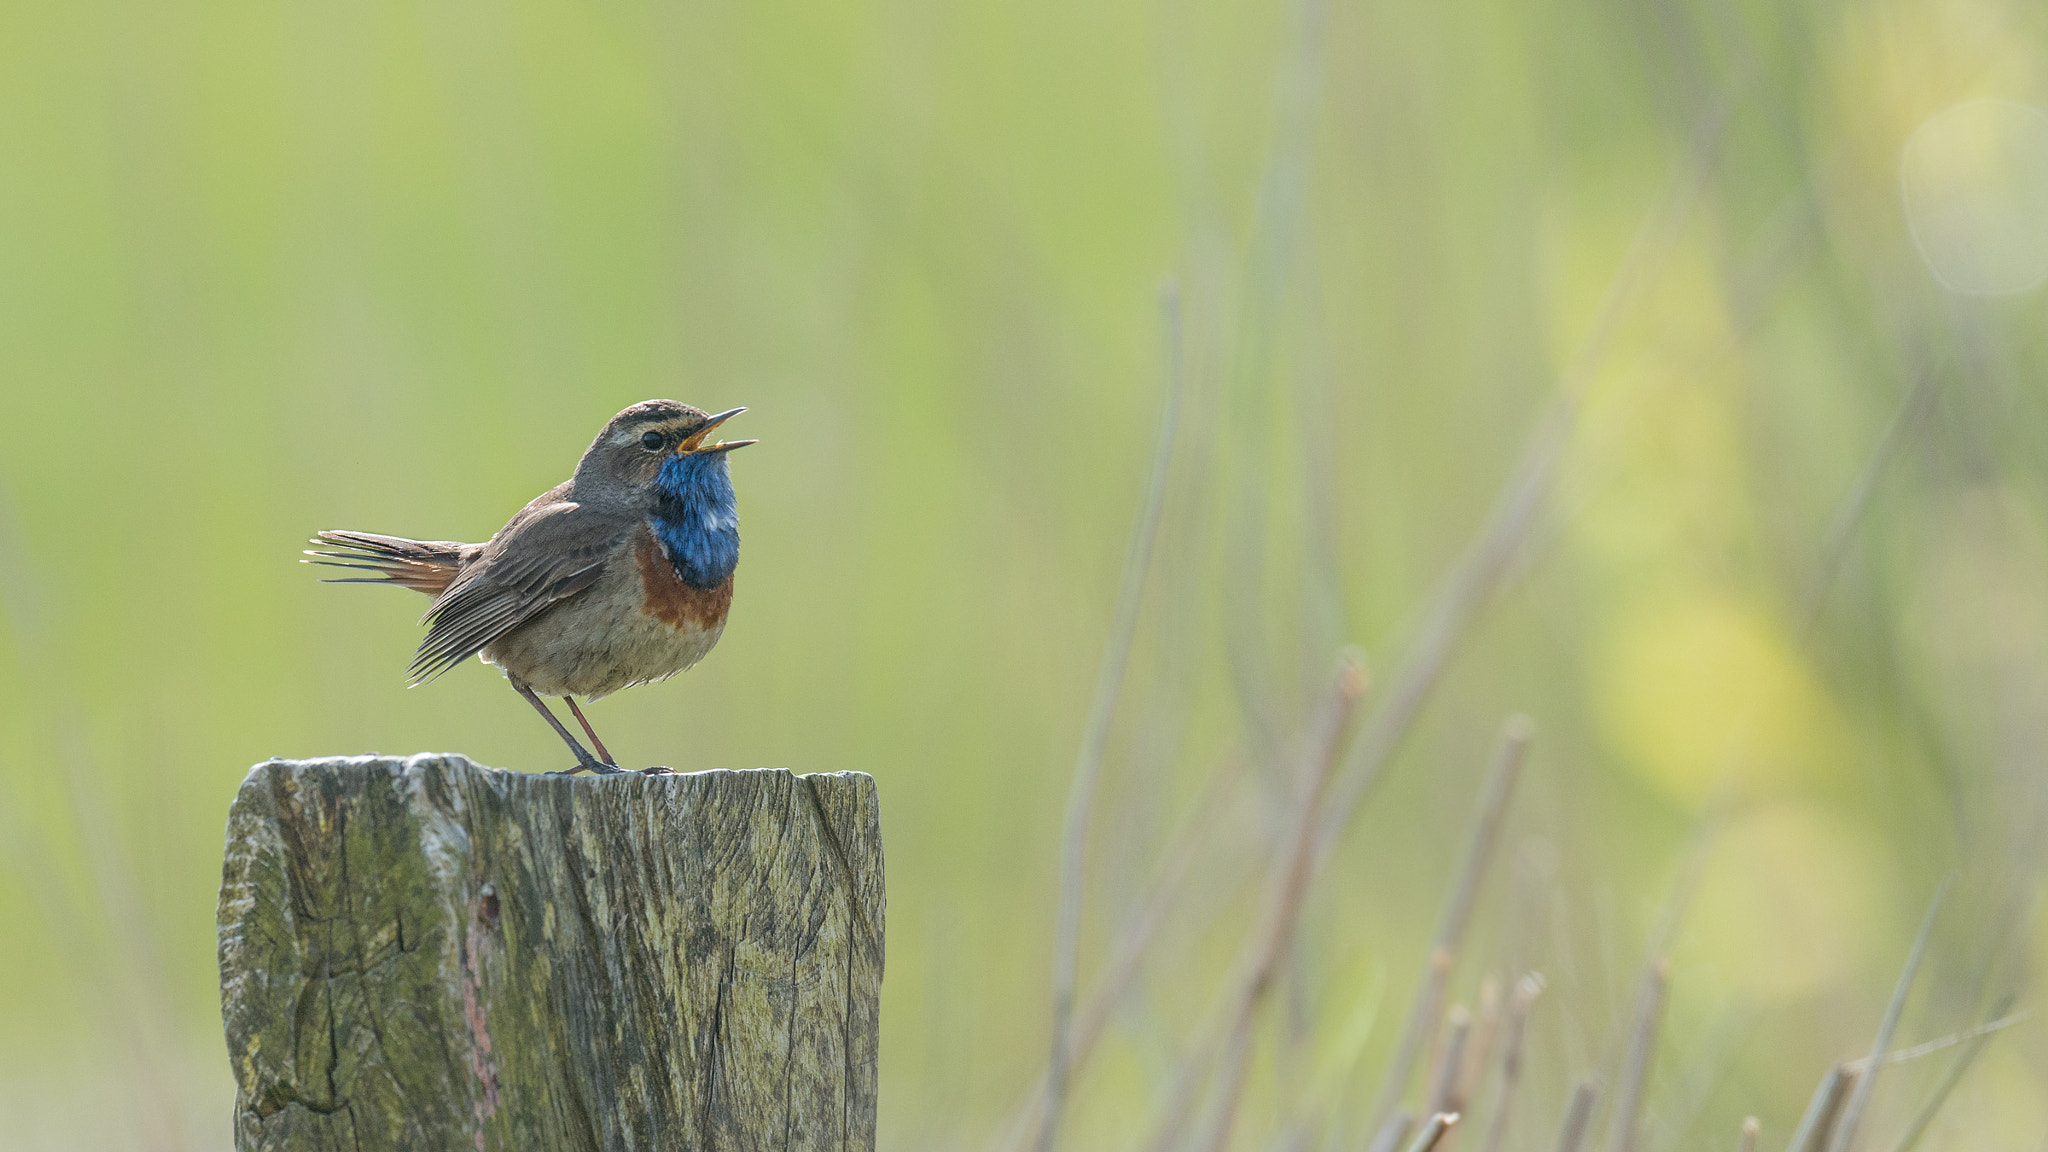
[[[227,816],[236,1148],[874,1148],[860,773],[270,760]]]

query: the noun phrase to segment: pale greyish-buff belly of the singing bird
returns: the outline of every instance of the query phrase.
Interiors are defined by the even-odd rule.
[[[596,584],[506,631],[481,656],[549,697],[602,697],[674,676],[719,642],[725,621],[670,623],[641,611],[643,590],[621,564]]]

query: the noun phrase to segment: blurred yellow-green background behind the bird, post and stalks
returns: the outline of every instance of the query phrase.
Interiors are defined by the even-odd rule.
[[[1536,752],[1452,982],[1550,984],[1509,1148],[1612,1072],[1706,822],[1649,1148],[1782,1146],[1944,875],[1901,1041],[2034,1002],[2040,107],[2034,0],[0,4],[0,1142],[225,1146],[248,765],[563,767],[487,668],[406,691],[424,603],[317,584],[303,537],[483,539],[672,396],[762,439],[739,594],[592,719],[879,779],[883,1146],[981,1148],[1049,1043],[1171,279],[1083,990],[1245,771],[1067,1146],[1157,1123],[1331,660],[1393,676],[1540,428],[1554,484],[1311,890],[1237,1146],[1303,1082],[1372,1095],[1509,711]],[[1872,1146],[1944,1062],[1886,1072]],[[1925,1146],[2044,1134],[2028,1019]]]

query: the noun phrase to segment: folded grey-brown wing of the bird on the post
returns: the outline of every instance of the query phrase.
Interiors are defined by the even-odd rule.
[[[604,572],[635,517],[559,500],[559,492],[526,504],[434,599],[422,617],[430,625],[426,640],[408,670],[414,685],[469,660]]]

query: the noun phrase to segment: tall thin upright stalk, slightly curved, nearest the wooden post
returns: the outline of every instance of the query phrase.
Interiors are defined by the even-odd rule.
[[[1096,699],[1087,711],[1081,750],[1073,760],[1073,783],[1067,789],[1067,818],[1059,853],[1059,920],[1053,943],[1053,1056],[1047,1074],[1044,1125],[1038,1127],[1038,1152],[1059,1144],[1059,1111],[1067,1097],[1069,1043],[1073,1029],[1073,986],[1081,937],[1081,861],[1087,847],[1087,818],[1096,804],[1096,779],[1102,775],[1102,750],[1110,740],[1110,719],[1130,664],[1130,644],[1139,629],[1139,607],[1145,601],[1145,576],[1151,570],[1151,549],[1159,535],[1159,512],[1165,508],[1165,480],[1174,461],[1174,433],[1180,426],[1180,293],[1174,285],[1159,291],[1161,326],[1165,330],[1165,402],[1159,410],[1159,439],[1153,447],[1151,476],[1145,482],[1145,504],[1124,551],[1122,582],[1116,590],[1116,615],[1110,640],[1096,674]]]

